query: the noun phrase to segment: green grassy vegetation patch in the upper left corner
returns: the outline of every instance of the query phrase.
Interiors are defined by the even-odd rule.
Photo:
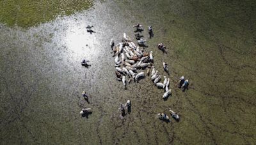
[[[3,0],[0,1],[0,22],[27,28],[90,6],[92,0]]]

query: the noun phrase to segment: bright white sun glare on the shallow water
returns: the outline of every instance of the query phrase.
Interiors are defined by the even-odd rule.
[[[84,13],[77,13],[68,17],[59,17],[53,23],[42,24],[43,36],[52,35],[51,42],[45,43],[49,53],[54,53],[54,50],[61,53],[62,57],[71,60],[72,62],[81,61],[84,57],[89,60],[99,57],[99,39],[97,33],[90,34],[86,31],[86,26],[89,24]],[[99,38],[99,36],[98,36]]]

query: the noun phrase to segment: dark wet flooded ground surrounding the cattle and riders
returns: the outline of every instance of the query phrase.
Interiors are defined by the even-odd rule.
[[[255,144],[255,6],[96,1],[29,29],[1,24],[1,144]],[[138,22],[153,26],[147,50],[161,75],[162,62],[169,64],[166,101],[149,77],[127,90],[116,80],[109,40],[120,41],[123,32],[133,38]],[[92,66],[82,67],[83,58]],[[176,87],[182,75],[191,82],[186,92]],[[118,107],[127,99],[132,112],[121,120]],[[92,107],[88,118],[79,114],[83,107]],[[179,122],[157,118],[169,108]]]

